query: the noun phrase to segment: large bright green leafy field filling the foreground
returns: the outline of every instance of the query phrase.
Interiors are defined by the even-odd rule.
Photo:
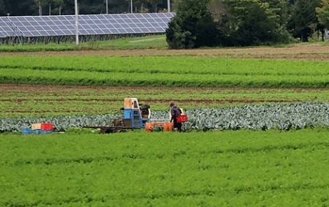
[[[328,130],[0,134],[0,206],[328,206]]]

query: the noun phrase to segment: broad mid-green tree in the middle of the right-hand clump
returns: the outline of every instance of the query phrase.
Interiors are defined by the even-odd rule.
[[[221,45],[264,45],[289,41],[284,18],[280,19],[284,5],[280,5],[280,8],[278,4],[260,0],[217,1],[221,1],[223,8],[217,18],[217,27],[227,37]]]

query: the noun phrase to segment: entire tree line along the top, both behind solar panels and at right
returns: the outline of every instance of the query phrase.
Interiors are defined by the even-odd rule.
[[[131,0],[77,0],[79,14],[130,13]],[[167,12],[167,0],[132,0],[133,12]],[[66,15],[75,0],[0,0],[0,15]],[[108,5],[106,7],[106,5]],[[324,40],[329,0],[171,0],[171,48]]]

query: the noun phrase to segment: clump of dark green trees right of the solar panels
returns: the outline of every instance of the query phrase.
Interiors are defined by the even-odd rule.
[[[166,30],[173,49],[324,40],[329,0],[182,0]]]

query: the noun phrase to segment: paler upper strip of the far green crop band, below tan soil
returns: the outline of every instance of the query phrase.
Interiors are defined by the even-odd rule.
[[[2,69],[175,73],[200,75],[329,75],[326,61],[254,60],[188,56],[3,56]]]

